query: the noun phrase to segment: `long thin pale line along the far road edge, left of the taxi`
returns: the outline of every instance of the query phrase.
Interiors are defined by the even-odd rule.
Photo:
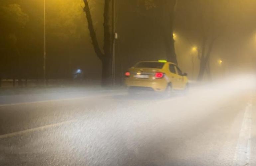
[[[105,96],[122,95],[122,94],[126,94],[126,93],[115,93],[115,94],[104,94],[104,95],[94,95],[94,96],[83,96],[83,97],[64,98],[64,99],[53,99],[53,100],[43,100],[43,101],[34,101],[34,102],[21,102],[21,103],[11,103],[11,104],[0,104],[0,107],[16,106],[16,105],[21,105],[21,104],[45,103],[45,102],[56,102],[56,101],[65,101],[65,100],[75,100],[75,99],[86,99],[86,98],[95,98],[95,97],[105,97]]]

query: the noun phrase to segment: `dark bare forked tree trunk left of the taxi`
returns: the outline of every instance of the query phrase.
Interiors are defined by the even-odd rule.
[[[111,53],[112,53],[112,40],[111,40],[111,28],[110,28],[110,19],[109,19],[109,11],[110,11],[110,0],[105,0],[104,5],[104,54],[101,52],[99,48],[99,44],[96,38],[96,33],[94,31],[93,22],[91,18],[91,13],[88,5],[87,0],[84,1],[84,12],[86,13],[86,18],[88,22],[88,29],[90,32],[92,45],[94,51],[98,58],[101,60],[102,63],[102,75],[101,75],[101,82],[102,85],[109,85],[110,84],[110,76],[111,76]]]

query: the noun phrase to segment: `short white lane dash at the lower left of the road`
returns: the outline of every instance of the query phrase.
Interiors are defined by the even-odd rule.
[[[43,130],[43,129],[50,128],[50,127],[57,127],[57,126],[60,126],[60,125],[63,125],[63,124],[71,123],[71,122],[75,122],[75,120],[60,122],[60,123],[57,123],[57,124],[48,124],[48,125],[45,125],[45,126],[40,126],[40,127],[36,127],[36,128],[30,128],[30,129],[26,129],[26,130],[22,130],[22,131],[3,134],[3,135],[0,135],[0,139],[13,137],[13,136],[17,136],[17,135],[37,131],[37,130]]]

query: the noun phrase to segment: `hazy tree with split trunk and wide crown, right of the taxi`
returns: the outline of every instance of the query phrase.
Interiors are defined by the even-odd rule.
[[[205,72],[211,79],[210,56],[216,40],[223,36],[226,28],[227,4],[227,1],[178,1],[176,26],[189,42],[192,40],[192,44],[197,45],[200,61],[198,81],[203,79]]]

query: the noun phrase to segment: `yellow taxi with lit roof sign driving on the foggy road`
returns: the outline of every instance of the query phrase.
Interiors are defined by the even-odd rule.
[[[141,61],[125,72],[125,85],[130,89],[169,92],[187,90],[187,73],[166,60]]]

